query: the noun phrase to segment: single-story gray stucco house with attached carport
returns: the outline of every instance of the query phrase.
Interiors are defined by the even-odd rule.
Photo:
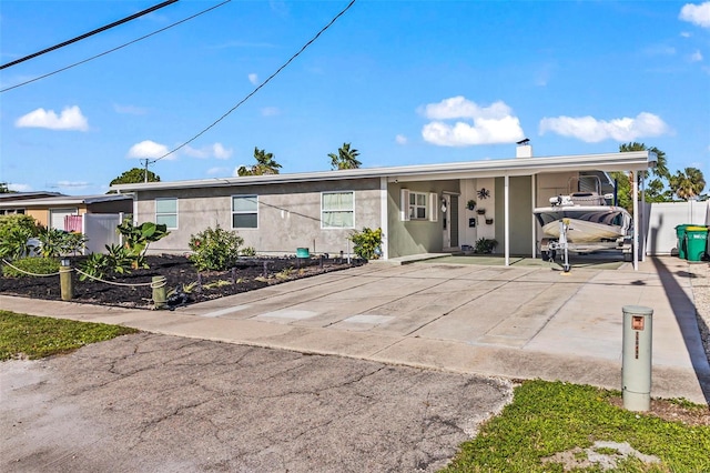
[[[496,239],[497,252],[536,254],[535,207],[567,193],[580,174],[647,170],[647,151],[353,169],[275,175],[118,184],[133,197],[136,223],[165,223],[153,252],[186,252],[190,236],[211,227],[236,230],[258,253],[351,253],[348,236],[382,228],[383,258],[446,252]],[[637,185],[638,187],[638,185]],[[635,188],[637,188],[635,187]],[[479,197],[480,195],[480,197]],[[481,198],[485,197],[485,198]],[[468,200],[477,209],[466,209]],[[635,225],[639,228],[639,225]]]

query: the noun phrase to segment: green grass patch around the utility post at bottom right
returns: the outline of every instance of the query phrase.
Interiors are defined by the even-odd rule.
[[[710,472],[710,426],[627,411],[609,402],[619,395],[588,385],[524,382],[516,388],[514,401],[486,422],[474,440],[460,445],[444,472]],[[569,470],[569,465],[542,461],[575,447],[582,450],[577,449],[577,456],[585,456],[584,449],[596,441],[628,442],[660,462],[645,464],[629,457],[612,470],[599,464]]]

